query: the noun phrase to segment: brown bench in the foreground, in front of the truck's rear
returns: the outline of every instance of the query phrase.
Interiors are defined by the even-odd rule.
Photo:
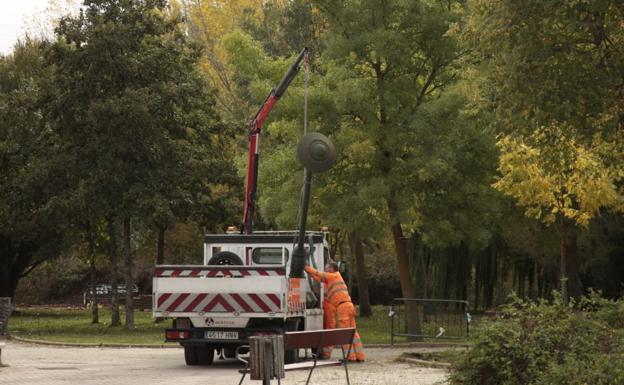
[[[306,381],[306,385],[310,382],[310,378],[312,378],[312,372],[317,367],[322,366],[340,366],[344,365],[345,368],[345,376],[347,378],[347,384],[351,385],[349,381],[349,369],[347,367],[348,356],[351,353],[351,349],[353,348],[353,337],[355,335],[355,328],[342,328],[342,329],[321,329],[321,330],[309,330],[302,332],[285,332],[284,333],[284,351],[293,350],[293,349],[312,349],[312,361],[303,361],[296,362],[292,364],[284,365],[284,371],[291,370],[300,370],[300,369],[310,369],[310,373],[308,374],[308,379]],[[323,346],[340,346],[340,350],[342,351],[342,360],[323,360],[319,361],[316,352],[320,352]],[[348,345],[349,349],[345,351],[344,345]],[[243,380],[245,379],[245,375],[250,372],[249,369],[249,361],[241,358],[238,354],[236,357],[247,364],[245,369],[239,370],[239,373],[242,373],[242,377],[240,382],[241,385]],[[280,380],[278,378],[278,384]]]

